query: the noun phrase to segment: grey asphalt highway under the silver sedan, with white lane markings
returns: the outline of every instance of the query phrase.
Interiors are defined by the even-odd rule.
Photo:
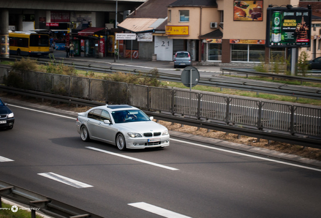
[[[121,152],[81,141],[75,117],[10,106],[0,180],[102,217],[321,216],[317,167],[175,136]]]

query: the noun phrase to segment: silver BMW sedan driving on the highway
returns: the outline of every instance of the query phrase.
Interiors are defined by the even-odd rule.
[[[106,104],[79,113],[76,126],[83,141],[94,139],[120,150],[169,146],[168,129],[152,119],[127,104]]]

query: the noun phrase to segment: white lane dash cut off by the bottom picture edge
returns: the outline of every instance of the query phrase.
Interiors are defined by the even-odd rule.
[[[171,210],[163,209],[162,207],[157,207],[145,202],[138,202],[138,203],[129,203],[128,205],[164,216],[168,218],[191,218],[190,216],[182,215]]]

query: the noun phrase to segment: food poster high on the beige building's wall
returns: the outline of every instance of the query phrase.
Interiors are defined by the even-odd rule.
[[[235,21],[262,21],[263,1],[233,1]]]

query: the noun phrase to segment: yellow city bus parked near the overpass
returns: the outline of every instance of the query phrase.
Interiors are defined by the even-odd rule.
[[[9,32],[10,55],[46,56],[49,54],[49,35],[33,31]]]

